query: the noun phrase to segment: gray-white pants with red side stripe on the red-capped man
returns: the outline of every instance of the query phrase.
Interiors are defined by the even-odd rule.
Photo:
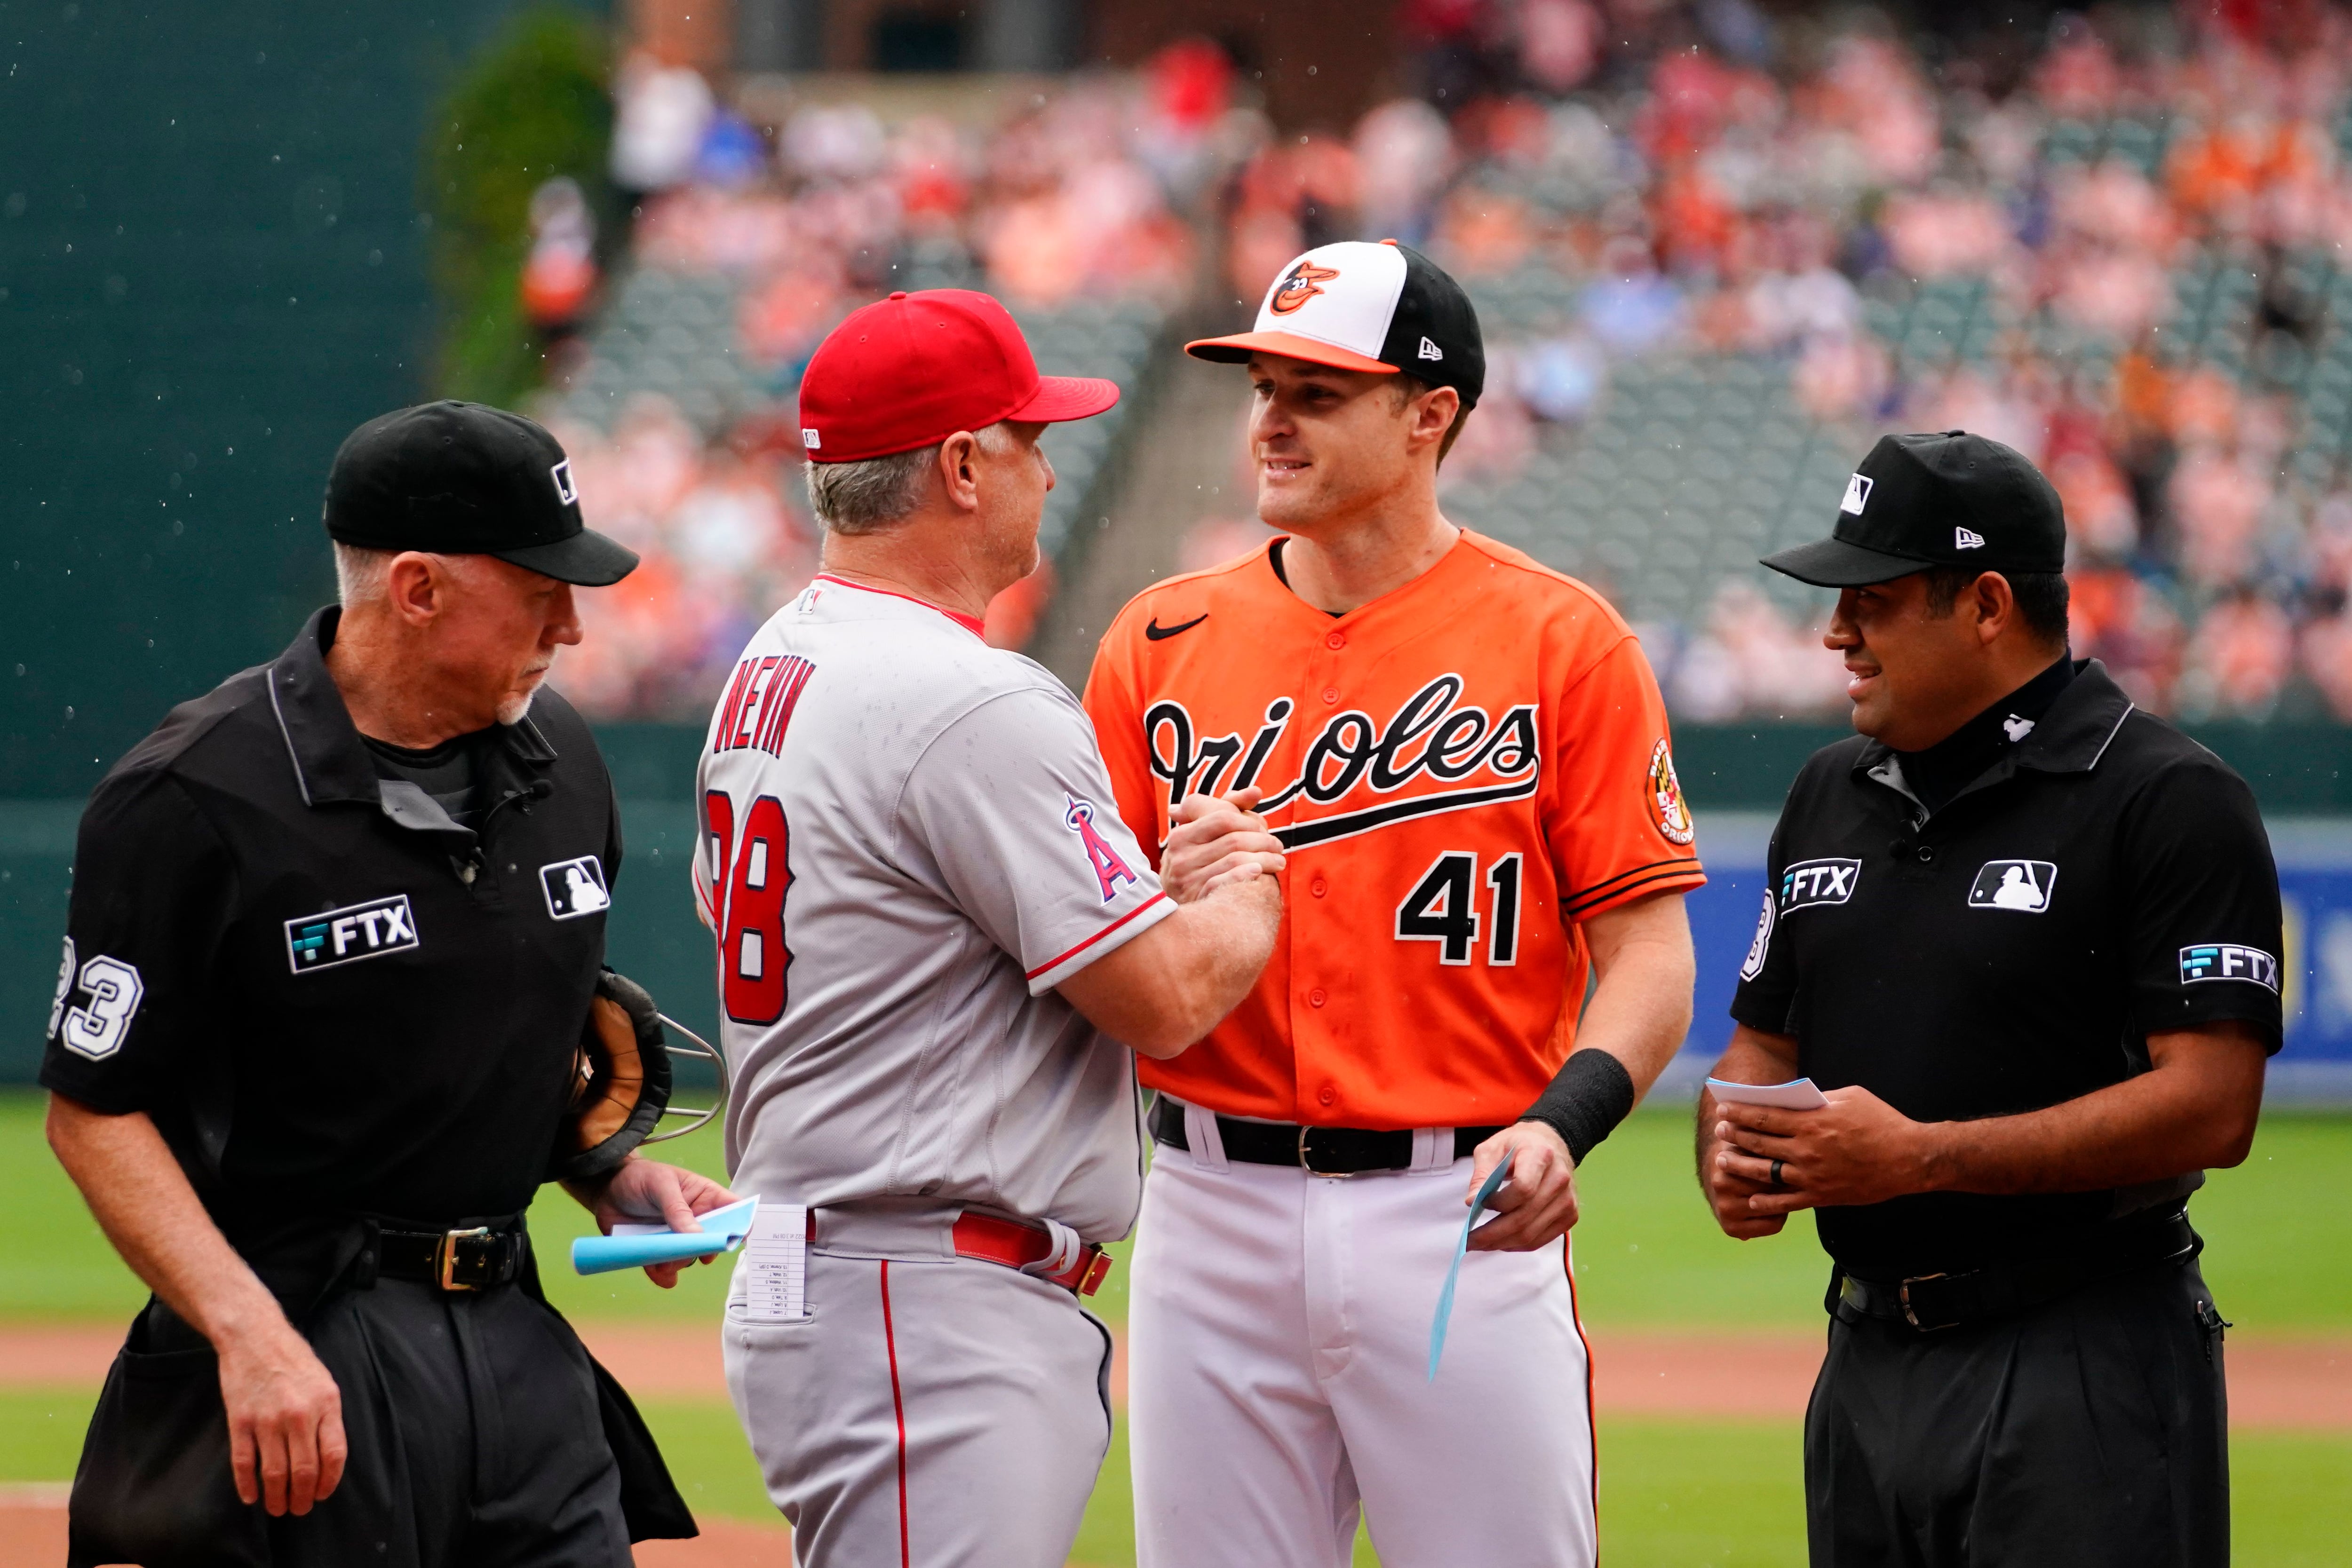
[[[1063,1568],[1110,1446],[1110,1333],[971,1258],[809,1255],[809,1316],[727,1307],[727,1392],[800,1568]]]

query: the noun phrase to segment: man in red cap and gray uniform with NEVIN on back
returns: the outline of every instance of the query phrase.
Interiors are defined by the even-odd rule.
[[[1080,1293],[1143,1192],[1134,1051],[1207,1034],[1272,952],[1282,856],[1178,907],[1084,710],[981,639],[1037,564],[1040,433],[1112,402],[1040,376],[985,294],[842,322],[800,388],[826,571],[703,748],[727,1152],[762,1199],[727,1382],[802,1568],[1068,1561],[1110,1443]]]

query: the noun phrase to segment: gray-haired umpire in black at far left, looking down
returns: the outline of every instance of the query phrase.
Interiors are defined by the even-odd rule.
[[[174,708],[82,816],[49,1143],[155,1300],[73,1561],[626,1568],[694,1523],[522,1211],[564,1166],[621,863],[541,679],[572,585],[635,557],[546,430],[454,402],[353,433],[327,531],[341,609]],[[635,1157],[574,1194],[607,1227],[727,1201]]]

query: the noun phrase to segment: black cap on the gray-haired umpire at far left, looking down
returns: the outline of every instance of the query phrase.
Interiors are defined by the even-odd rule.
[[[562,444],[477,402],[421,402],[353,430],[327,475],[327,536],[362,550],[496,555],[581,588],[637,567],[635,550],[581,522]]]

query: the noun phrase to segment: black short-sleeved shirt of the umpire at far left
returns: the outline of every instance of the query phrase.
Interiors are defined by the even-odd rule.
[[[92,795],[40,1072],[153,1114],[240,1248],[532,1201],[621,863],[604,762],[553,691],[482,748],[480,832],[379,780],[327,675],[336,616]]]

